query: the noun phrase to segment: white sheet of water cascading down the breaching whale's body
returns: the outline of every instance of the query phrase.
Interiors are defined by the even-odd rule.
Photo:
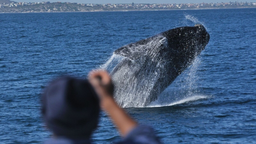
[[[133,50],[130,51],[131,53],[140,57],[134,60],[123,57],[120,61],[122,67],[117,65],[115,69],[118,71],[112,74],[112,80],[116,87],[115,100],[119,105],[122,107],[144,107],[149,101],[152,90],[157,90],[154,88],[155,83],[160,78],[160,73],[166,63],[159,51],[166,46],[167,39],[157,36],[151,38],[144,45],[134,45],[129,48],[129,50]],[[113,55],[111,59],[119,57]],[[108,64],[113,63],[111,59],[109,60],[111,62],[105,64],[105,68],[108,69],[111,66]],[[142,66],[145,67],[142,68]],[[156,93],[160,94],[160,91]]]

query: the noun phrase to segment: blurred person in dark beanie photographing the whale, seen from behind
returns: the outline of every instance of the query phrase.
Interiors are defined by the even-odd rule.
[[[138,125],[113,99],[114,87],[104,71],[90,72],[88,80],[70,76],[50,82],[42,97],[42,113],[53,138],[45,144],[91,144],[100,107],[116,125],[118,144],[160,144],[150,126]]]

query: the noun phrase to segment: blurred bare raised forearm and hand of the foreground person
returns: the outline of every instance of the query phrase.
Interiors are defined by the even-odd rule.
[[[113,84],[110,75],[103,70],[89,74],[89,81],[100,98],[100,105],[125,137],[131,130],[137,127],[137,123],[120,108],[113,99]]]

